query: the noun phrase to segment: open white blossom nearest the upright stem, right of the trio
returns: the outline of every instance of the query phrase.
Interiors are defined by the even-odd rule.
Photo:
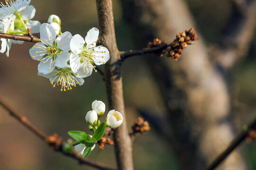
[[[77,72],[79,68],[87,68],[96,65],[105,64],[110,59],[110,52],[106,47],[96,47],[96,42],[99,36],[97,28],[91,28],[85,40],[81,35],[76,34],[70,42],[70,49],[73,52],[70,55],[70,67],[73,72]],[[97,72],[97,70],[95,70]]]

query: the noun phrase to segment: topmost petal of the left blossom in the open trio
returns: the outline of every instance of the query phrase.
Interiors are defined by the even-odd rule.
[[[55,30],[52,26],[47,23],[44,23],[40,26],[40,38],[42,41],[47,41],[46,43],[52,44],[56,38]]]

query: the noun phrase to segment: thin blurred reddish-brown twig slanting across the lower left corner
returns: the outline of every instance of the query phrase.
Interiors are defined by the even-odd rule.
[[[0,105],[2,105],[3,108],[8,110],[11,116],[13,116],[15,119],[17,119],[22,125],[27,127],[36,136],[38,136],[40,139],[42,139],[46,144],[49,144],[50,146],[54,146],[51,148],[53,148],[55,151],[58,151],[66,156],[69,156],[69,157],[79,161],[79,163],[81,163],[81,164],[89,165],[89,166],[97,168],[99,170],[115,170],[113,168],[108,167],[107,165],[102,164],[102,163],[99,163],[96,161],[91,161],[87,158],[82,158],[81,155],[78,155],[76,153],[73,153],[73,154],[65,153],[62,149],[62,146],[64,145],[64,143],[61,142],[61,140],[58,140],[58,139],[61,139],[60,137],[58,137],[58,139],[55,139],[55,135],[47,136],[44,132],[40,131],[37,127],[35,127],[35,125],[33,125],[32,123],[27,121],[26,117],[19,115],[18,112],[13,110],[7,103],[3,102],[1,99],[0,99]],[[58,142],[60,142],[60,143],[58,143]]]

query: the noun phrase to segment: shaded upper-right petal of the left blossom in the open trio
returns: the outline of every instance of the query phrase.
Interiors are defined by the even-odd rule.
[[[68,31],[64,32],[63,34],[58,36],[56,39],[56,42],[59,43],[57,47],[63,51],[70,51],[71,39],[72,39],[72,34]]]

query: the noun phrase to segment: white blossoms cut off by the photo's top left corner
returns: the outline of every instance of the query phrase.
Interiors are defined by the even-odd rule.
[[[30,0],[5,0],[0,2],[0,33],[6,34],[36,34],[39,33],[39,21],[32,21],[36,9],[29,5]],[[23,41],[14,41],[1,38],[1,53],[6,51],[9,57],[9,50],[12,43],[22,44]]]

